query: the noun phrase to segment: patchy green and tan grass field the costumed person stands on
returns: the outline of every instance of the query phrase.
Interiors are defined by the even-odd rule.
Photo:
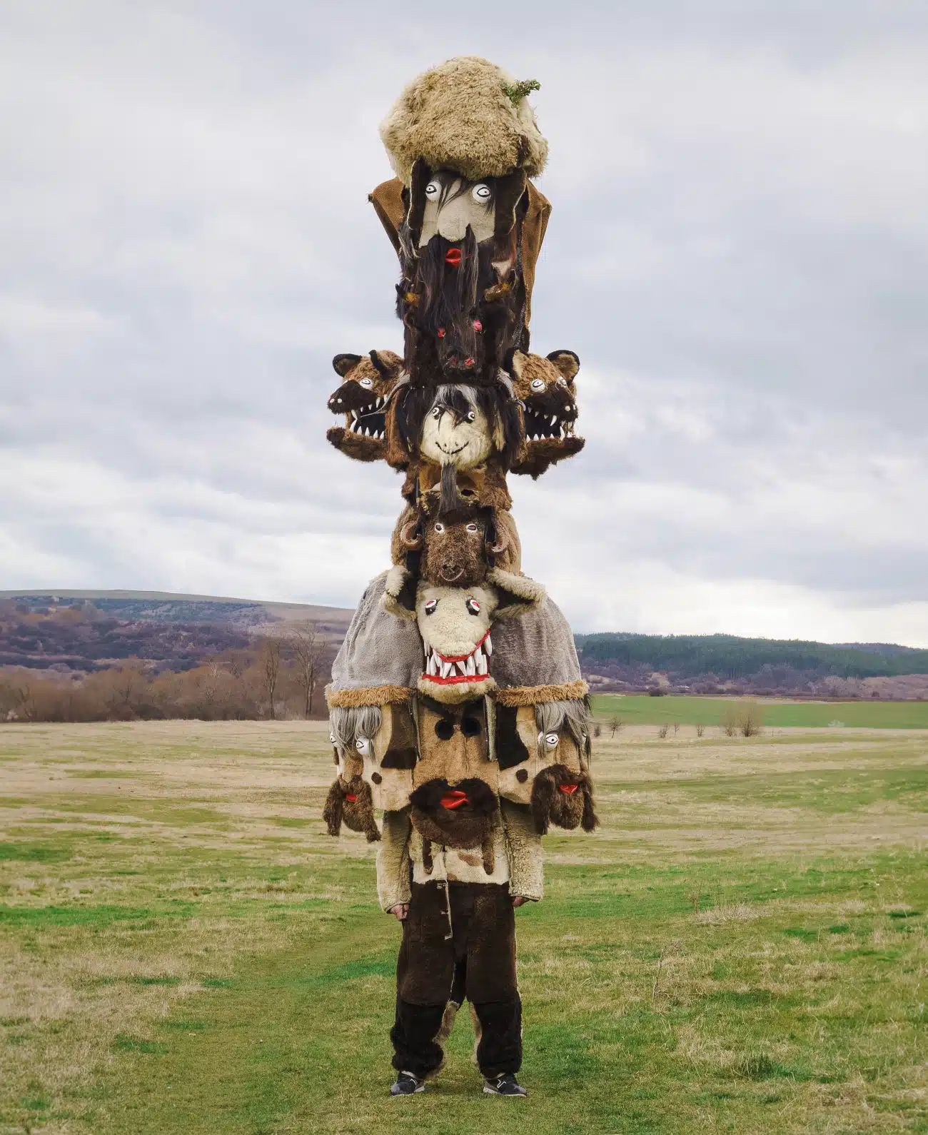
[[[928,1132],[928,734],[604,738],[517,913],[513,1101],[466,1014],[388,1099],[399,927],[326,733],[0,729],[0,1132]]]

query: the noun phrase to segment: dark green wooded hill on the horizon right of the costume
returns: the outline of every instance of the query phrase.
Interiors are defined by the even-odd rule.
[[[881,644],[828,646],[799,640],[751,639],[734,634],[576,634],[584,670],[597,663],[676,674],[715,674],[725,681],[751,678],[765,669],[812,672],[819,676],[878,678],[928,674],[928,650]]]

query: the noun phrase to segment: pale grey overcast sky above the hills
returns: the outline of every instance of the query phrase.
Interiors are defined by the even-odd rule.
[[[526,573],[575,630],[928,645],[928,6],[838,9],[5,0],[0,588],[356,603],[377,126],[466,52],[541,83],[532,345],[581,359]]]

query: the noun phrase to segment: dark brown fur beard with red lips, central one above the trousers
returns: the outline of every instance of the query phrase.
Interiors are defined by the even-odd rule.
[[[413,826],[423,844],[449,848],[481,848],[483,869],[492,875],[495,857],[492,826],[498,802],[496,793],[479,777],[452,787],[446,780],[431,780],[410,797]],[[431,848],[423,847],[425,869],[431,871]]]

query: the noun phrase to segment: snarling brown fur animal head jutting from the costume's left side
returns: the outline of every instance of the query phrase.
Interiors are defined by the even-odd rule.
[[[403,372],[403,360],[393,351],[370,355],[337,354],[332,367],[345,381],[329,397],[334,414],[345,414],[344,426],[332,426],[329,442],[355,461],[387,457],[387,404]]]

